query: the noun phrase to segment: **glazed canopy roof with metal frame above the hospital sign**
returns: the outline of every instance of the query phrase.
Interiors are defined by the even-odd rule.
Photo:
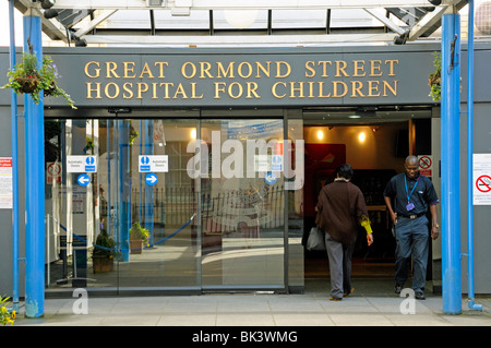
[[[33,2],[34,1],[34,2]],[[466,0],[16,0],[52,40],[76,46],[217,47],[405,44]],[[46,12],[46,13],[45,13]],[[57,14],[49,17],[49,14]],[[248,22],[250,17],[250,22]]]

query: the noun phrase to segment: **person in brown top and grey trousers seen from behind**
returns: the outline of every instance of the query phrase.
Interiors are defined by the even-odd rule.
[[[352,292],[351,255],[358,225],[366,228],[368,244],[373,242],[363,193],[349,182],[352,173],[350,165],[340,166],[334,182],[322,188],[316,206],[316,224],[325,232],[330,259],[332,301],[340,301]]]

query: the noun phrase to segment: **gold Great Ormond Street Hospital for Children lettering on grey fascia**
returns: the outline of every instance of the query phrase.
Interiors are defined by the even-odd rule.
[[[89,61],[86,99],[327,99],[397,96],[399,61]]]

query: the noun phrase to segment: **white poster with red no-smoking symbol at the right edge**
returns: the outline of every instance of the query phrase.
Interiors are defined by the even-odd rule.
[[[472,156],[474,205],[491,205],[491,154]]]

